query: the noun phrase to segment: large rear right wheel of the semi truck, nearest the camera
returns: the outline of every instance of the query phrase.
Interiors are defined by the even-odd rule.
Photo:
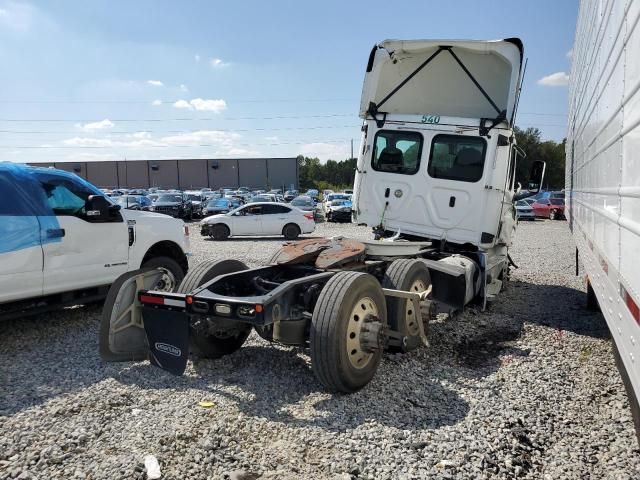
[[[311,319],[311,366],[332,392],[371,381],[382,358],[386,304],[372,275],[338,272],[326,283]]]

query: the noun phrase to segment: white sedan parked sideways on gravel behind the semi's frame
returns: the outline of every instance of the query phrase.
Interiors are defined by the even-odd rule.
[[[313,212],[303,212],[283,203],[249,203],[229,213],[200,222],[200,233],[216,240],[235,235],[284,235],[287,240],[315,230]]]

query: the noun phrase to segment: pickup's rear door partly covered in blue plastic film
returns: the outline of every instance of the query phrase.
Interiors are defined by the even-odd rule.
[[[0,170],[0,303],[42,295],[41,212],[23,181]]]

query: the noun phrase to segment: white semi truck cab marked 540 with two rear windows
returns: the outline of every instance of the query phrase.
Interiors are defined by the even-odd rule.
[[[360,105],[354,221],[380,238],[477,251],[488,282],[500,282],[516,225],[522,58],[517,38],[376,45]],[[534,162],[531,194],[543,174]]]

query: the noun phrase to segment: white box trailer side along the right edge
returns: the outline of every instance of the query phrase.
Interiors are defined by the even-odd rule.
[[[640,2],[583,0],[573,48],[566,203],[640,432]]]

